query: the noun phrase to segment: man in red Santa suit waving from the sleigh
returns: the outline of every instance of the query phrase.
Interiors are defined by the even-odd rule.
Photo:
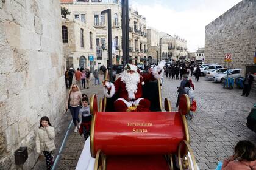
[[[120,74],[115,84],[105,81],[105,97],[111,98],[116,93],[119,98],[115,101],[116,112],[149,111],[150,101],[142,97],[142,86],[145,81],[157,80],[163,77],[165,60],[155,66],[148,74],[140,75],[138,67],[133,64],[126,64],[124,72]]]

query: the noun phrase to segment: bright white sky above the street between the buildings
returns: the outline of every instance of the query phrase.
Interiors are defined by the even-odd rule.
[[[205,26],[241,0],[130,0],[147,27],[187,40],[189,52],[204,47]]]

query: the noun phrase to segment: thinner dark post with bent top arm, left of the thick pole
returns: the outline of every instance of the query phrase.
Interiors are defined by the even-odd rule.
[[[111,26],[111,9],[101,12],[101,15],[107,13],[107,36],[108,36],[108,64],[110,71],[110,80],[112,80],[112,26]]]

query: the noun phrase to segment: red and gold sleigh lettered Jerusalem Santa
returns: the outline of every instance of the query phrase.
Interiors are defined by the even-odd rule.
[[[166,98],[163,111],[160,81],[147,82],[143,88],[143,97],[155,103],[151,112],[114,112],[116,97],[101,98],[98,109],[96,95],[91,96],[94,169],[197,169],[185,118],[188,96],[180,98],[178,112],[171,111]]]

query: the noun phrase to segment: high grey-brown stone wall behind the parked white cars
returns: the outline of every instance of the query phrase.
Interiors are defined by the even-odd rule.
[[[224,63],[232,57],[230,67],[256,73],[256,1],[243,0],[205,27],[205,62]]]

